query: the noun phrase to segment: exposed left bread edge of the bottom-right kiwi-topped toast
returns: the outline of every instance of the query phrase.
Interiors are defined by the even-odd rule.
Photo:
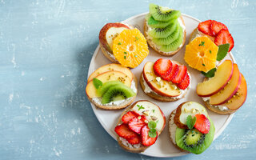
[[[170,118],[169,118],[169,121],[168,121],[168,130],[169,130],[169,135],[170,135],[170,142],[172,142],[174,144],[174,146],[178,149],[178,150],[181,150],[182,152],[187,152],[189,153],[188,151],[186,150],[182,150],[180,147],[177,146],[177,143],[176,143],[176,140],[175,140],[175,134],[176,134],[176,128],[178,126],[176,126],[176,124],[174,123],[174,116],[176,114],[176,109],[173,110],[171,113],[170,113]]]

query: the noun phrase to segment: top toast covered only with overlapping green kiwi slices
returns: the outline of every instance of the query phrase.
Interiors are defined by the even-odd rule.
[[[179,10],[150,4],[145,19],[144,34],[151,48],[164,56],[181,50],[186,42],[186,27]]]

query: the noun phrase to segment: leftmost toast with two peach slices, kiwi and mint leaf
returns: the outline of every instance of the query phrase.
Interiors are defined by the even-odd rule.
[[[129,106],[137,94],[137,79],[120,64],[107,64],[90,74],[86,95],[98,108],[117,110]]]

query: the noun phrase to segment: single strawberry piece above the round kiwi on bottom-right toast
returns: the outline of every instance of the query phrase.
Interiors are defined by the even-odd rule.
[[[197,121],[194,123],[196,128],[202,134],[208,134],[210,130],[210,121],[204,114],[195,114]]]

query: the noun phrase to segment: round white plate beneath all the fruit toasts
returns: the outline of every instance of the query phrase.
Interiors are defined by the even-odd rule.
[[[134,17],[126,19],[123,23],[129,24],[131,26],[135,26],[143,33],[143,25],[144,25],[144,14],[138,14]],[[182,17],[185,21],[186,26],[186,43],[188,43],[188,39],[190,38],[190,34],[192,31],[198,26],[198,23],[200,22],[198,19],[193,18],[189,15],[182,14]],[[139,80],[140,74],[142,73],[143,66],[146,62],[151,61],[155,62],[158,58],[170,58],[175,61],[181,62],[182,64],[186,65],[186,62],[184,61],[184,53],[185,53],[185,46],[182,47],[182,50],[178,52],[178,54],[175,54],[173,57],[164,57],[160,54],[157,54],[154,50],[150,48],[150,54],[144,59],[144,61],[137,66],[134,69],[131,69],[131,71],[134,73],[135,77]],[[233,55],[227,54],[226,59],[231,59],[234,62]],[[102,50],[100,50],[99,46],[94,52],[94,56],[91,59],[90,62],[90,68],[88,71],[88,77],[90,74],[94,72],[94,70],[98,69],[100,66],[106,65],[111,63],[103,54]],[[186,101],[194,101],[203,104],[202,98],[199,98],[198,95],[195,92],[196,86],[198,82],[202,82],[203,76],[198,70],[194,70],[190,67],[188,67],[188,70],[190,71],[191,77],[192,77],[192,84],[190,90],[188,90],[188,93],[186,94],[185,98],[182,98],[176,102],[158,102],[150,97],[148,97],[146,94],[144,94],[139,82],[138,82],[138,95],[134,102],[138,100],[149,100],[151,102],[154,102],[158,106],[160,106],[163,113],[166,115],[166,127],[162,131],[162,134],[158,137],[157,142],[153,146],[150,146],[147,150],[145,150],[142,154],[152,156],[152,157],[177,157],[182,156],[187,153],[181,152],[180,150],[176,149],[174,145],[170,142],[169,134],[168,134],[168,118],[172,110],[176,109],[179,104]],[[103,128],[114,138],[116,139],[116,135],[114,133],[114,127],[116,126],[116,123],[118,122],[118,117],[121,115],[123,110],[101,110],[94,106],[94,104],[90,103],[94,114],[98,118],[98,121],[102,124]],[[208,113],[210,115],[210,118],[214,122],[215,126],[215,135],[214,139],[218,138],[220,134],[222,134],[222,131],[226,128],[226,126],[230,123],[230,120],[233,118],[234,114],[230,115],[220,115],[220,114],[214,114],[210,110],[208,110]]]

